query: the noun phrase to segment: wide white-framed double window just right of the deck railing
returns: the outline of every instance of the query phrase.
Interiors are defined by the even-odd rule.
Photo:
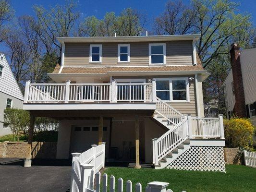
[[[164,101],[189,102],[188,78],[156,79],[157,97]]]

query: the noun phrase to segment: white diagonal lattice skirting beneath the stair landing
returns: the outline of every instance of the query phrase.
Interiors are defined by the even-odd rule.
[[[226,172],[223,147],[191,146],[166,168]]]

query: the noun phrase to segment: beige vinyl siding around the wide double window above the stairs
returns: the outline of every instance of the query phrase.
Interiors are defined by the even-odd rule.
[[[172,77],[195,77],[194,75],[190,76],[179,76],[179,75],[173,75],[173,76],[112,76],[112,79],[145,79],[146,83],[148,82],[149,79],[154,79],[154,78],[172,78]],[[190,101],[189,102],[168,102],[173,108],[176,108],[183,114],[191,114],[192,116],[197,116],[197,111],[196,111],[196,99],[195,99],[195,80],[189,81],[189,97]]]

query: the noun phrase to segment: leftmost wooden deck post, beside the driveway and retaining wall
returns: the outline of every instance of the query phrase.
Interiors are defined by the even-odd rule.
[[[33,142],[34,123],[35,123],[35,117],[30,114],[26,160],[24,161],[25,168],[31,167],[31,151],[32,151],[32,142]]]

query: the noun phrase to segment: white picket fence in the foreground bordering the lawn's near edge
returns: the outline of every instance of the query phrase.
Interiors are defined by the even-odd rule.
[[[87,164],[85,165],[84,172],[84,187],[83,189],[79,189],[75,192],[100,192],[101,185],[101,173],[97,172],[94,174],[93,165]],[[94,179],[95,177],[95,179]],[[113,175],[110,176],[110,183],[108,185],[108,175],[106,173],[103,174],[102,177],[102,192],[115,192],[115,177]],[[95,181],[95,183],[94,183]],[[159,182],[153,181],[147,183],[145,188],[145,192],[172,192],[170,189],[166,190],[169,183],[167,182]],[[109,186],[109,189],[108,189]],[[123,188],[125,188],[123,190]],[[133,183],[131,180],[127,180],[125,183],[125,187],[123,187],[123,179],[119,178],[117,180],[117,192],[132,192],[133,191]],[[135,192],[142,192],[142,185],[140,183],[135,184]],[[183,191],[184,192],[184,191]]]

